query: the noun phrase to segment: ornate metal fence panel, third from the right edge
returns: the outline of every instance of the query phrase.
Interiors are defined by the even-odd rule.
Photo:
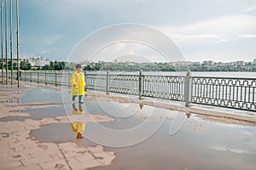
[[[138,95],[138,75],[109,75],[109,92]]]

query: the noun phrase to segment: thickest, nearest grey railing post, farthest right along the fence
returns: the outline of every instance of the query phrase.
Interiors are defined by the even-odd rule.
[[[191,105],[192,100],[192,78],[191,78],[191,71],[186,73],[185,77],[185,106],[189,107]]]

